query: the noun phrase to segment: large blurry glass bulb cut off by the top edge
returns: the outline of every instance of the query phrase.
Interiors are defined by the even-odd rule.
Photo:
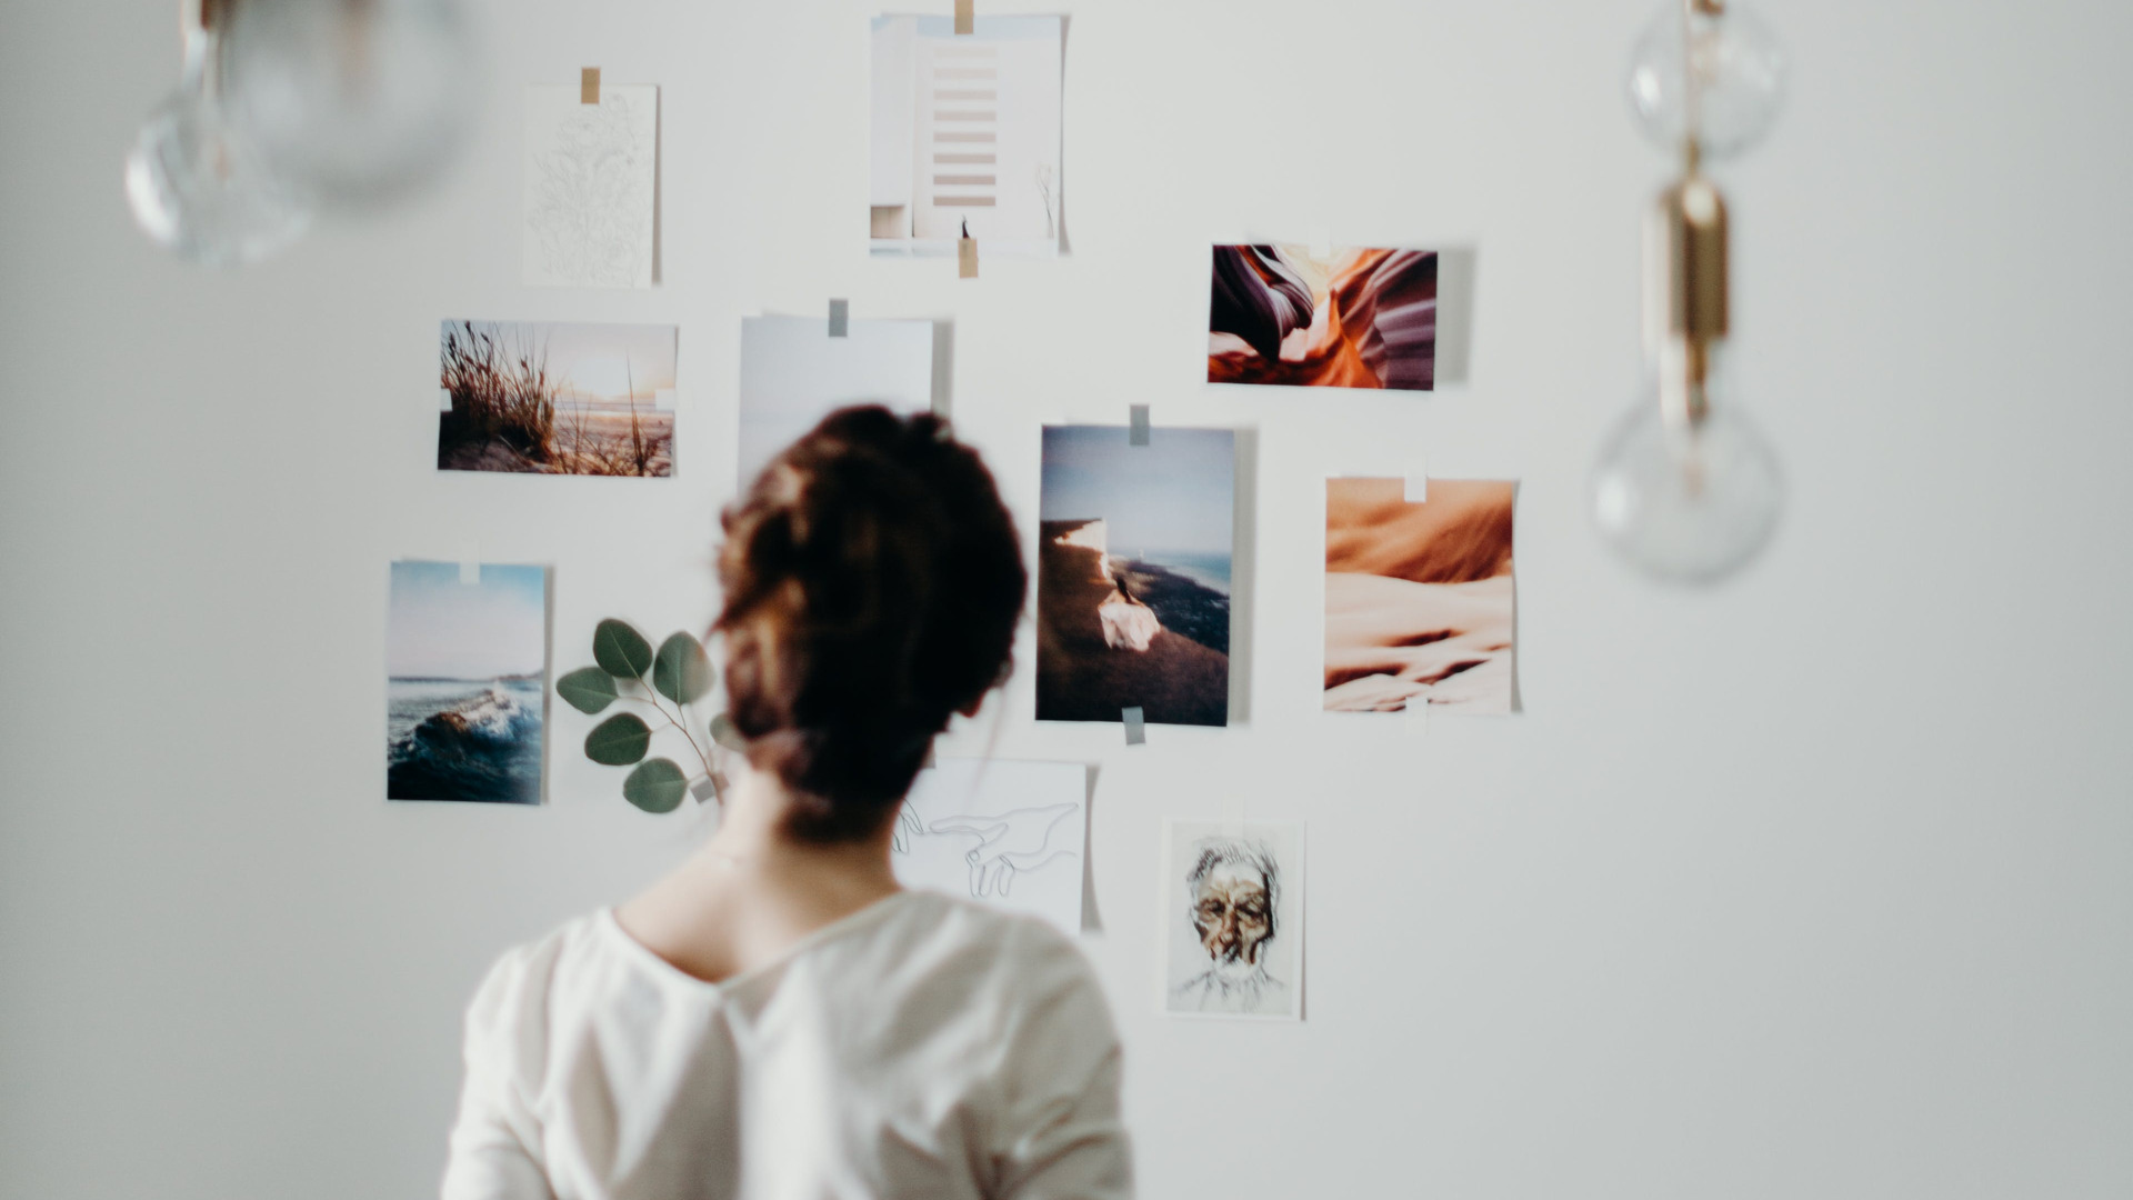
[[[235,4],[228,38],[232,113],[328,207],[403,199],[474,126],[480,79],[459,0]]]

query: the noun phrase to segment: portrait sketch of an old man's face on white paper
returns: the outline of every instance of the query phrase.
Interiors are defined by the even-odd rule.
[[[1303,826],[1165,826],[1162,903],[1173,1014],[1303,1014]]]

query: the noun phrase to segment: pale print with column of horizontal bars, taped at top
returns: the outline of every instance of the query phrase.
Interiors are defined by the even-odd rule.
[[[875,17],[877,254],[1058,254],[1060,53],[1060,17]]]

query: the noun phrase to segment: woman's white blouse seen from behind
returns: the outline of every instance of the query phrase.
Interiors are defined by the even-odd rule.
[[[1041,920],[896,893],[708,984],[597,912],[467,1008],[444,1200],[1122,1200],[1118,1087]]]

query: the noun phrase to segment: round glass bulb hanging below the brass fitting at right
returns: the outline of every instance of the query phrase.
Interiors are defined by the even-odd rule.
[[[1668,419],[1649,384],[1593,470],[1593,523],[1632,566],[1668,583],[1717,583],[1777,530],[1777,455],[1713,397],[1698,423]]]

